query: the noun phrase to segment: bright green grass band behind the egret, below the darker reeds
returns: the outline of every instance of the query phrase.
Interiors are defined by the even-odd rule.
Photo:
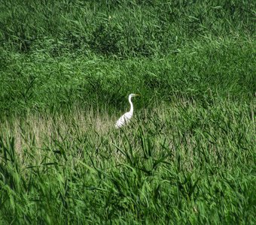
[[[254,46],[251,41],[195,43],[176,55],[126,60],[2,52],[0,112],[65,110],[74,104],[104,107],[106,102],[109,110],[117,110],[131,92],[143,96],[139,107],[151,107],[157,99],[251,101],[256,92]]]

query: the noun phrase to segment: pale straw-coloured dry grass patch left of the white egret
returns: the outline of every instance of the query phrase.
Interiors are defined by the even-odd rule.
[[[40,115],[28,113],[26,117],[19,116],[0,124],[0,135],[5,142],[14,137],[14,148],[18,153],[23,148],[36,146],[43,148],[45,141],[62,141],[65,136],[78,136],[94,131],[99,135],[108,133],[114,127],[113,118],[108,114],[100,115],[98,110],[74,110],[69,115]]]

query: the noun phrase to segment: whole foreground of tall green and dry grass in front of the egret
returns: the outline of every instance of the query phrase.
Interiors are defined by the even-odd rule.
[[[2,220],[253,223],[251,107],[181,101],[123,130],[99,110],[5,122]]]

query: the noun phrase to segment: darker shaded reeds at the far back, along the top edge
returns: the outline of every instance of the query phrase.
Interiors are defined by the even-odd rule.
[[[165,55],[190,40],[254,35],[253,1],[5,1],[0,46],[99,55]],[[193,42],[193,41],[192,41]]]

